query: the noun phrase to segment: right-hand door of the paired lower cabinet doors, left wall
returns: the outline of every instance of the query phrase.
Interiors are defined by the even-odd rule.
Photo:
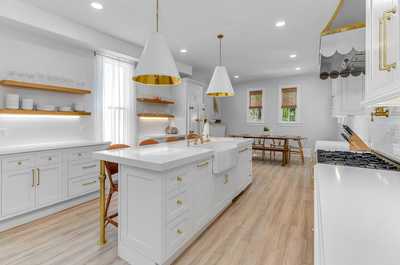
[[[61,198],[61,167],[59,165],[37,169],[37,207],[56,203]]]

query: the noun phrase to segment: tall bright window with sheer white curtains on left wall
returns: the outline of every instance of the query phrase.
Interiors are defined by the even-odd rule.
[[[97,55],[100,124],[105,141],[134,143],[133,65]]]

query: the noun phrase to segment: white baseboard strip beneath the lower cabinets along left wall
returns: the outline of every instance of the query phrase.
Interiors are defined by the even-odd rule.
[[[71,208],[78,204],[88,202],[90,200],[99,197],[98,192],[89,193],[77,198],[69,199],[67,201],[59,202],[55,205],[51,205],[42,209],[38,209],[29,213],[21,214],[18,216],[10,217],[0,221],[0,232],[14,228],[19,225],[23,225],[34,220],[55,214],[57,212],[63,211],[65,209]]]

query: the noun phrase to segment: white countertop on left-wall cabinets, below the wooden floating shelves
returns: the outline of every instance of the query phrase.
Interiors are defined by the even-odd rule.
[[[10,145],[0,146],[0,155],[11,155],[18,153],[46,151],[54,149],[65,149],[75,147],[85,147],[94,145],[108,145],[110,142],[104,141],[65,141],[65,142],[49,142],[49,143],[35,143],[27,145]]]

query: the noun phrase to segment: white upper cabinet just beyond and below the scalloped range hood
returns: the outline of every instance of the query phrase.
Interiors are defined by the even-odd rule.
[[[342,117],[363,113],[365,77],[349,76],[332,80],[332,116]]]

